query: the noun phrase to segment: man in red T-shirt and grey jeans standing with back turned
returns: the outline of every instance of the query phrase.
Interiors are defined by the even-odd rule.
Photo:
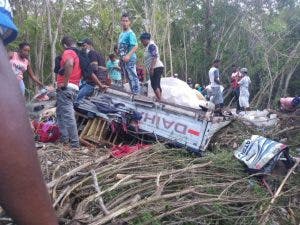
[[[74,48],[73,38],[64,36],[61,40],[64,52],[61,56],[60,68],[64,74],[57,75],[57,122],[61,132],[61,142],[70,142],[71,148],[79,148],[79,137],[75,119],[74,101],[79,91],[79,82],[82,77],[80,61]]]

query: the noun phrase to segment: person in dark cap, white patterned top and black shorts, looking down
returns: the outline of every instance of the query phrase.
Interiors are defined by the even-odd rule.
[[[151,40],[151,34],[143,33],[140,37],[142,44],[145,47],[144,64],[147,73],[150,75],[151,87],[158,101],[161,101],[162,89],[160,86],[161,75],[164,72],[164,64],[159,58],[158,47]]]

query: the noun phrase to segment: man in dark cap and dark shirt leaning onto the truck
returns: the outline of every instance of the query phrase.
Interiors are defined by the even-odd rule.
[[[107,81],[107,76],[105,71],[105,59],[102,54],[94,49],[93,42],[90,39],[84,39],[78,42],[78,45],[82,46],[83,51],[86,51],[88,54],[93,73],[90,77],[83,78],[76,102],[91,96],[94,93],[95,85],[98,85],[101,89],[108,87],[104,85]]]

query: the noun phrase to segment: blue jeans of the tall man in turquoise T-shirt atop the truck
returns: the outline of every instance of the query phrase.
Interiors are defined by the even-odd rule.
[[[136,59],[130,59],[129,62],[124,63],[125,70],[128,74],[129,85],[133,94],[140,93],[139,78],[136,73]]]

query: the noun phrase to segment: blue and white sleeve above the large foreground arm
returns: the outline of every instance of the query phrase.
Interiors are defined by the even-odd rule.
[[[4,45],[12,42],[18,35],[18,28],[13,22],[10,4],[7,0],[0,1],[0,37]]]

